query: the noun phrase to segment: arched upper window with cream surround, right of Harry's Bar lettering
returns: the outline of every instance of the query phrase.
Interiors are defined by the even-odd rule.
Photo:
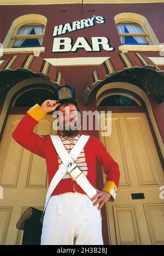
[[[114,17],[122,44],[155,44],[160,42],[148,20],[137,13],[120,13]]]

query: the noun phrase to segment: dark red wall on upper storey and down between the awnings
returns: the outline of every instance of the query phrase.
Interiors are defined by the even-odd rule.
[[[116,29],[114,16],[119,13],[132,12],[145,16],[148,19],[149,24],[154,30],[160,43],[164,42],[164,34],[162,27],[164,27],[164,3],[152,3],[152,4],[84,4],[83,13],[81,12],[81,4],[68,4],[68,5],[14,5],[14,6],[1,6],[0,8],[0,42],[3,43],[8,30],[10,29],[13,21],[21,15],[26,14],[42,14],[47,19],[47,25],[43,40],[43,46],[45,47],[45,53],[40,54],[41,58],[74,58],[74,57],[110,57],[119,53],[118,47],[121,45],[118,31]],[[73,41],[77,40],[77,37],[86,37],[90,42],[91,36],[103,36],[110,39],[112,47],[115,47],[113,52],[85,52],[84,49],[79,49],[78,52],[69,53],[52,53],[52,33],[54,26],[70,23],[76,20],[91,18],[93,15],[101,15],[106,19],[104,24],[95,24],[95,26],[81,29],[61,35],[58,37],[71,37]],[[160,57],[159,52],[141,52],[148,57]],[[5,54],[1,60],[9,58],[11,55]],[[82,109],[85,109],[83,103],[82,94],[87,87],[90,76],[96,69],[96,66],[62,66],[57,68],[67,84],[74,86],[77,99]],[[163,67],[161,67],[164,70]],[[93,99],[93,103],[95,98]],[[94,105],[94,104],[93,104]],[[151,101],[153,112],[159,126],[161,136],[164,141],[164,121],[163,116],[164,108],[163,104],[157,104]],[[90,105],[91,108],[91,105]],[[96,105],[94,105],[96,108]]]

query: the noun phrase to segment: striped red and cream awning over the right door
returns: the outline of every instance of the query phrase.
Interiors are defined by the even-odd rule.
[[[124,70],[147,69],[154,70],[164,76],[164,71],[160,70],[148,57],[139,53],[119,53],[114,57],[105,60],[93,72],[89,85],[84,92],[84,102],[87,103],[93,89],[116,74]]]

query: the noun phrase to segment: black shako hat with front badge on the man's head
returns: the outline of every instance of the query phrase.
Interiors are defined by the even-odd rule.
[[[56,101],[58,101],[57,103],[65,103],[65,102],[70,102],[73,103],[76,107],[78,107],[78,103],[75,99],[75,91],[74,88],[69,86],[69,85],[65,85],[65,86],[61,86],[56,88],[56,93],[55,93],[56,97]]]

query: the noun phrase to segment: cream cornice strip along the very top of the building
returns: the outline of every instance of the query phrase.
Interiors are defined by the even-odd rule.
[[[84,0],[83,4],[142,4],[164,3],[164,0]],[[46,5],[46,4],[81,4],[81,0],[0,0],[0,5]]]

